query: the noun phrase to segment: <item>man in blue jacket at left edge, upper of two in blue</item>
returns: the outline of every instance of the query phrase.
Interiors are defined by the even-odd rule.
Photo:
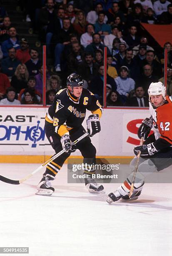
[[[9,36],[10,38],[2,43],[2,52],[4,57],[8,56],[8,49],[12,47],[16,50],[20,49],[20,42],[17,39],[17,31],[15,28],[12,27],[9,29]]]

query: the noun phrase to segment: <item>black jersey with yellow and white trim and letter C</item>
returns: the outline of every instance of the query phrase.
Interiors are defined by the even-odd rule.
[[[82,89],[81,96],[77,98],[70,90],[62,89],[57,92],[45,120],[52,123],[54,131],[62,136],[72,128],[82,125],[86,110],[90,110],[92,114],[98,114],[99,118],[102,116],[102,106],[92,92]]]

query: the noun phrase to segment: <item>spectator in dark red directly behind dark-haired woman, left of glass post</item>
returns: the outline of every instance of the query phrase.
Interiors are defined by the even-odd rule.
[[[37,101],[38,101],[39,103],[42,102],[42,97],[41,97],[40,92],[35,89],[35,86],[36,86],[36,79],[35,79],[34,76],[29,77],[28,82],[27,82],[27,86],[28,86],[28,87],[27,87],[28,89],[32,90],[32,91],[35,93],[35,96],[36,96],[36,98],[37,98]],[[20,102],[21,102],[21,100],[24,98],[24,91],[25,91],[25,89],[22,89],[22,90],[20,91],[19,95],[18,95],[18,100],[20,100]]]

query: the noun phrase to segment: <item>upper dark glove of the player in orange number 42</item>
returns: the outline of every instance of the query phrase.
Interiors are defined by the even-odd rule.
[[[142,120],[142,124],[140,125],[137,133],[138,137],[139,138],[143,137],[143,139],[146,140],[150,133],[152,125],[153,125],[153,120],[151,117],[145,118],[144,120]]]

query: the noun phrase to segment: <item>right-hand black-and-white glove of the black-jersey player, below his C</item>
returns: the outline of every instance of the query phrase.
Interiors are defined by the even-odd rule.
[[[87,131],[88,131],[90,137],[92,137],[93,135],[95,135],[96,133],[99,133],[101,131],[99,115],[97,115],[97,114],[90,115],[88,117],[86,123],[87,123]]]

